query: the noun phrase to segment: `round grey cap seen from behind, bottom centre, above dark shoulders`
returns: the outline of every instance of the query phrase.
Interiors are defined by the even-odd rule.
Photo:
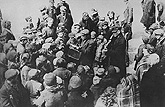
[[[72,88],[78,88],[82,85],[82,81],[80,79],[80,77],[78,76],[72,76],[70,81],[69,81],[69,86],[71,86]]]

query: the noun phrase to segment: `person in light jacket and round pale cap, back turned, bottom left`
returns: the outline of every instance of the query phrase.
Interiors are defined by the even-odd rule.
[[[40,97],[34,101],[39,107],[64,107],[66,94],[64,87],[57,84],[57,76],[53,73],[44,75],[45,89],[41,92]]]

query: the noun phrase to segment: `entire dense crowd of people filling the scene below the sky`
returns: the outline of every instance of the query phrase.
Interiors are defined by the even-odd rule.
[[[65,0],[57,6],[49,0],[49,6],[40,8],[36,26],[31,16],[25,18],[27,25],[19,40],[15,40],[11,22],[3,20],[0,14],[0,105],[163,107],[163,4],[158,4],[161,13],[155,23],[156,19],[146,20],[154,14],[154,0],[142,1],[141,22],[147,35],[135,55],[137,74],[133,75],[126,73],[133,7],[129,0],[124,2],[127,8],[122,21],[114,11],[100,17],[96,9],[91,9],[92,14],[83,12],[80,22],[74,23]]]

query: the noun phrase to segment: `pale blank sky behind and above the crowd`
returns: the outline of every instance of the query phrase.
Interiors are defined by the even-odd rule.
[[[36,23],[39,17],[39,8],[47,5],[49,0],[0,0],[0,8],[4,19],[12,22],[12,31],[15,36],[20,36],[23,26],[25,26],[25,17],[32,16],[33,22]],[[55,0],[57,3],[59,0]],[[114,10],[118,14],[123,15],[125,9],[124,0],[66,0],[72,11],[74,22],[77,23],[81,19],[83,12],[89,12],[92,8],[96,8],[100,16],[105,16],[108,10]],[[140,23],[142,9],[141,0],[131,0],[134,7],[133,32],[143,30]]]

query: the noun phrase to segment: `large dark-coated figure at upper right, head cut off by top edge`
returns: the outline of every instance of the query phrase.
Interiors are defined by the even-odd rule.
[[[146,27],[146,30],[155,23],[155,6],[154,0],[142,0],[143,16],[140,20],[141,23]]]

